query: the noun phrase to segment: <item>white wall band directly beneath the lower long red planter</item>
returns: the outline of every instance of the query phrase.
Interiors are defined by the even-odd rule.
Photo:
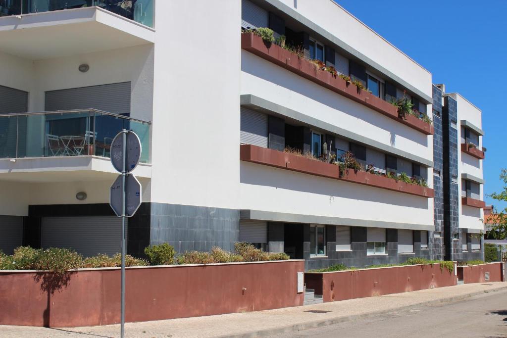
[[[241,163],[240,201],[241,209],[433,224],[431,198],[247,162]]]

